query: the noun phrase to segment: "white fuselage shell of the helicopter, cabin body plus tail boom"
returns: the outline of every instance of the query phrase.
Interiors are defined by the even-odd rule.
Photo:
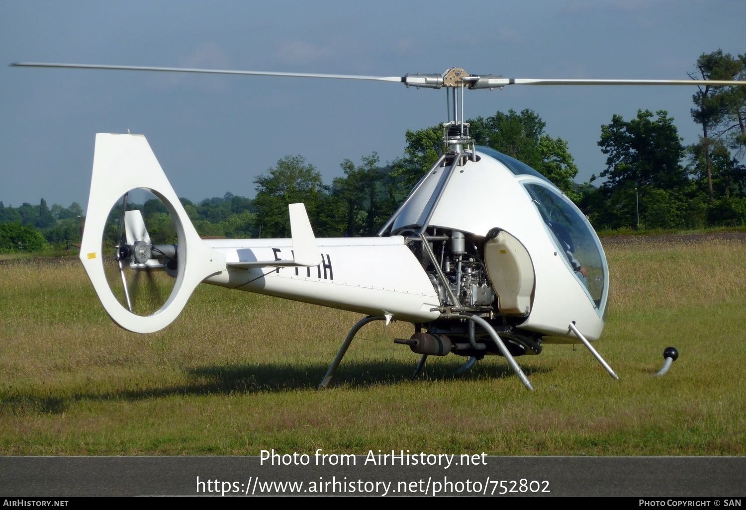
[[[598,339],[603,313],[589,296],[587,283],[568,270],[568,259],[525,190],[526,185],[554,186],[532,174],[516,176],[498,160],[477,154],[478,161],[467,160],[452,173],[435,207],[431,198],[442,175],[431,172],[399,212],[392,230],[420,227],[428,211],[432,211],[429,224],[444,231],[486,236],[492,227],[501,228],[520,240],[533,262],[532,304],[521,329],[566,336],[568,323],[574,322],[586,338]],[[479,183],[476,192],[475,182]],[[210,248],[225,254],[228,269],[204,282],[403,321],[427,323],[438,318],[442,303],[405,236],[316,241],[322,263],[275,269],[231,264],[292,259],[292,239],[205,240]],[[605,303],[608,285],[602,292]]]

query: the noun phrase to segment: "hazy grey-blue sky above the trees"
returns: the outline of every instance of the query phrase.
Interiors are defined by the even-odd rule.
[[[446,120],[445,92],[401,84],[21,69],[16,61],[404,75],[458,66],[510,78],[686,79],[697,57],[746,52],[743,0],[0,1],[0,200],[86,207],[98,132],[142,133],[180,196],[254,195],[301,154],[339,163],[404,151]],[[471,91],[466,116],[536,111],[580,174],[605,168],[600,127],[668,110],[686,143],[695,87]]]

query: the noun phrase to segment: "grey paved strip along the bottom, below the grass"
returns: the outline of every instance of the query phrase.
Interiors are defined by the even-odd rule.
[[[354,465],[344,467],[317,466],[313,455],[309,465],[289,466],[272,466],[269,461],[261,465],[256,456],[0,457],[0,497],[191,496],[198,494],[198,489],[200,494],[214,495],[223,488],[251,494],[247,487],[258,495],[257,481],[304,482],[295,493],[300,495],[312,495],[304,490],[313,490],[312,484],[320,482],[337,482],[336,486],[327,485],[322,491],[326,495],[332,491],[358,495],[366,488],[371,489],[369,494],[389,496],[422,494],[425,489],[431,495],[436,488],[442,494],[469,495],[467,479],[472,491],[479,482],[478,487],[482,491],[486,487],[488,494],[496,489],[495,495],[501,491],[495,484],[499,480],[516,480],[513,486],[517,489],[521,479],[539,482],[527,485],[536,493],[527,489],[522,494],[507,494],[512,496],[746,495],[746,457],[477,457],[475,465],[456,465],[460,458],[455,456],[448,468],[445,461],[436,464],[436,456],[430,457],[433,465],[401,465],[401,461],[373,465],[370,461],[366,464],[366,456],[356,456]],[[387,482],[390,485],[386,486]],[[353,487],[357,487],[357,494]],[[542,492],[545,488],[550,492]],[[269,494],[290,492],[275,489]]]

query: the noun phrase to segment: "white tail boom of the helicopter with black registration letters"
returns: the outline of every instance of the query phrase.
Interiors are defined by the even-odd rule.
[[[429,322],[440,305],[432,283],[402,236],[316,239],[316,266],[228,266],[205,283],[401,319]],[[292,239],[208,239],[233,262],[292,259]],[[434,309],[434,310],[433,310]]]

